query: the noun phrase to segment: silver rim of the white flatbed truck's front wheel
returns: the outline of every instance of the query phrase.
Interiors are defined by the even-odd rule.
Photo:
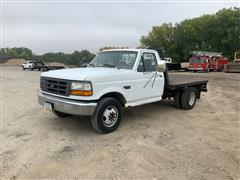
[[[103,124],[106,127],[112,127],[116,124],[118,119],[118,110],[115,106],[107,106],[102,115]]]

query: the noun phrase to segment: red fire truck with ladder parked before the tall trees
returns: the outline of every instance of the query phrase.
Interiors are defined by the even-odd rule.
[[[221,53],[194,51],[189,60],[189,71],[223,71],[224,65],[228,64],[228,59]]]

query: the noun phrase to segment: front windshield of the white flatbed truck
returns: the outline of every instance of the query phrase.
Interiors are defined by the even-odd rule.
[[[137,58],[136,51],[107,51],[100,52],[90,65],[132,69]]]

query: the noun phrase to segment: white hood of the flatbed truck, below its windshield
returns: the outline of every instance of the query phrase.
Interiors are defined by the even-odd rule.
[[[86,67],[86,68],[71,68],[63,70],[53,70],[44,72],[41,76],[59,78],[59,79],[68,79],[68,80],[89,80],[88,78],[95,78],[104,75],[113,75],[120,73],[121,69],[117,68],[106,68],[106,67]]]

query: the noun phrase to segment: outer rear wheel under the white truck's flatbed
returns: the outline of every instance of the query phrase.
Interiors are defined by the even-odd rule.
[[[185,110],[192,109],[196,104],[197,93],[193,87],[187,88],[181,95],[181,108]]]

